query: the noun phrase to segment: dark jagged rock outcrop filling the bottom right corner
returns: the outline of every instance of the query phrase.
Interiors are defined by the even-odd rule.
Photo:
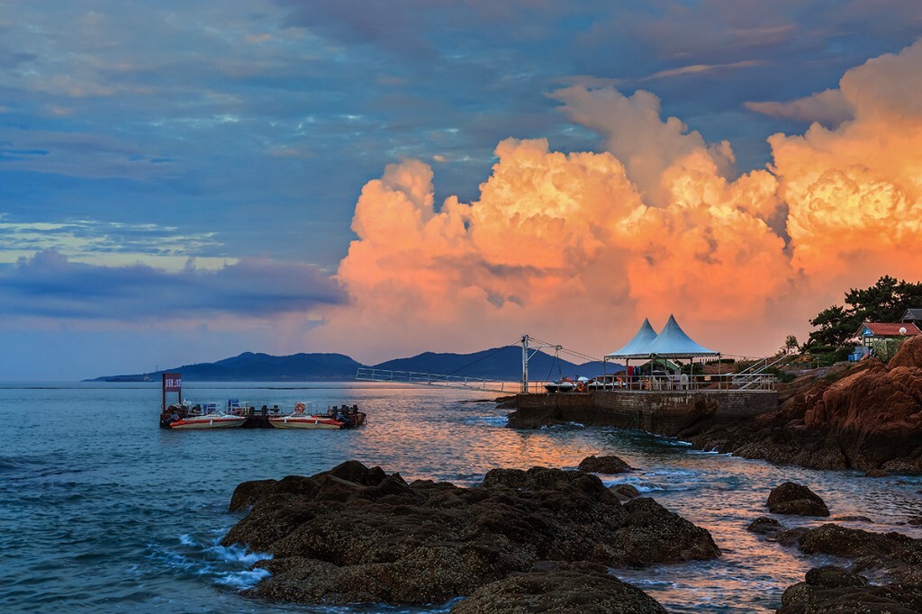
[[[871,533],[840,525],[789,532],[803,552],[849,559],[852,569],[811,569],[805,581],[789,586],[778,614],[823,612],[922,612],[922,539],[899,533]],[[786,541],[784,536],[779,541]],[[891,584],[870,584],[859,573],[886,573]]]

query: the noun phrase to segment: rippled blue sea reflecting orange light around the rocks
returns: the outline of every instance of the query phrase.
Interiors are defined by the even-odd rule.
[[[833,516],[864,515],[875,531],[922,514],[920,478],[772,466],[641,432],[573,425],[504,428],[491,395],[362,384],[186,384],[193,401],[235,397],[257,405],[357,404],[356,431],[163,431],[159,384],[0,384],[0,611],[444,612],[432,608],[305,608],[239,595],[257,582],[258,553],[219,539],[243,480],[312,475],[349,459],[408,480],[472,485],[493,467],[574,468],[615,454],[639,470],[629,482],[709,529],[717,561],[619,571],[671,612],[752,612],[780,605],[783,589],[828,562],[759,541],[745,528],[765,514],[769,490],[808,484]],[[819,524],[781,518],[783,524]]]

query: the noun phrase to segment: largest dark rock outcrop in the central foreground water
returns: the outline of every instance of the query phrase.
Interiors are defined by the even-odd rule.
[[[539,561],[619,567],[720,554],[706,530],[652,499],[622,505],[596,476],[543,467],[494,469],[465,489],[350,461],[312,478],[244,482],[231,511],[251,505],[222,543],[273,556],[258,563],[272,575],[252,594],[307,604],[441,603],[539,573]]]

